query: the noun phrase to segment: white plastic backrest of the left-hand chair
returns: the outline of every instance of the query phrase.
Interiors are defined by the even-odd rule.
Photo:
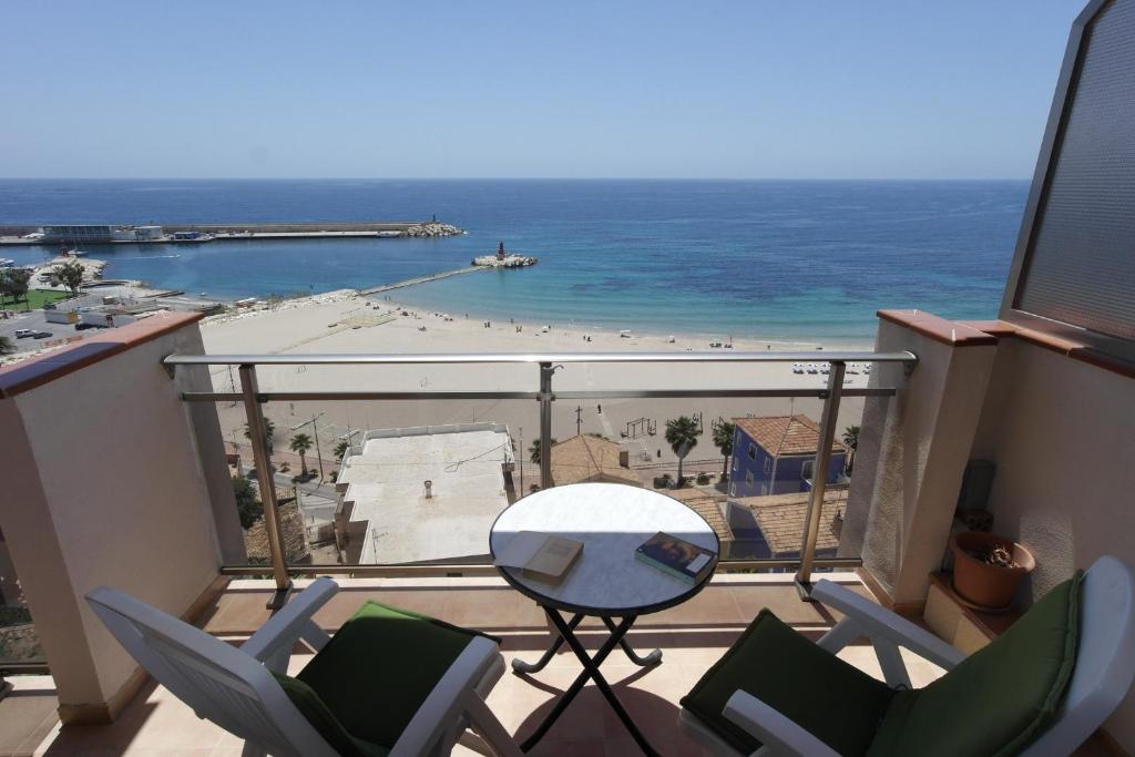
[[[99,587],[86,600],[126,651],[199,717],[275,757],[336,754],[258,659],[116,589]]]

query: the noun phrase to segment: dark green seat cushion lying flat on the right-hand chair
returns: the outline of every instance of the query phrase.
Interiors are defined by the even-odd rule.
[[[760,742],[722,715],[738,689],[791,718],[841,755],[863,755],[893,692],[762,609],[737,642],[682,698],[742,754]],[[958,752],[961,754],[961,752]]]

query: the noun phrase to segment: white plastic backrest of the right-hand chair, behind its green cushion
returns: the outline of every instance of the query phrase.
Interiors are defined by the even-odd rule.
[[[1023,754],[1070,755],[1103,724],[1135,680],[1135,571],[1105,556],[1084,577],[1079,648],[1051,727]]]

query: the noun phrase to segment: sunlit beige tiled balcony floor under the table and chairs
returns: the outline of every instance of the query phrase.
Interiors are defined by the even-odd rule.
[[[866,594],[854,575],[839,578]],[[343,589],[317,616],[328,629],[337,628],[364,599],[375,598],[501,636],[506,659],[516,655],[535,659],[548,644],[539,608],[497,579],[342,580],[339,583]],[[268,595],[269,584],[264,581],[234,581],[201,622],[209,632],[238,641],[268,617],[264,609]],[[787,575],[721,575],[689,603],[641,617],[629,634],[640,650],[661,647],[662,665],[640,668],[621,650],[614,651],[603,665],[604,675],[662,754],[703,754],[678,729],[678,700],[760,607],[770,607],[782,620],[812,636],[822,633],[834,620],[822,606],[800,602]],[[582,628],[581,638],[591,648],[606,638],[598,622],[585,623]],[[869,646],[850,647],[841,656],[878,674]],[[305,655],[294,656],[294,668],[302,667],[306,659]],[[940,674],[936,667],[917,658],[911,657],[909,666],[916,685]],[[557,655],[539,674],[505,673],[489,697],[489,706],[511,732],[523,738],[544,718],[579,670],[579,662],[568,651]],[[41,696],[50,697],[50,692]],[[32,700],[19,701],[26,707]],[[0,750],[12,743],[2,738],[5,720],[0,717]],[[15,746],[8,748],[9,754],[27,754],[26,746],[23,752]],[[235,757],[241,748],[238,739],[199,720],[168,691],[151,683],[114,724],[57,726],[34,754]],[[455,754],[473,752],[459,747]],[[639,752],[596,688],[588,684],[531,754]]]

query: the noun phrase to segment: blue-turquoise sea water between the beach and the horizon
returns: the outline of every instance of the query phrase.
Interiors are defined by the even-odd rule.
[[[460,268],[392,292],[435,311],[733,338],[865,342],[881,308],[997,313],[1027,182],[0,180],[0,224],[438,220],[436,239],[91,246],[108,278],[238,298]],[[45,247],[5,247],[19,262]]]

